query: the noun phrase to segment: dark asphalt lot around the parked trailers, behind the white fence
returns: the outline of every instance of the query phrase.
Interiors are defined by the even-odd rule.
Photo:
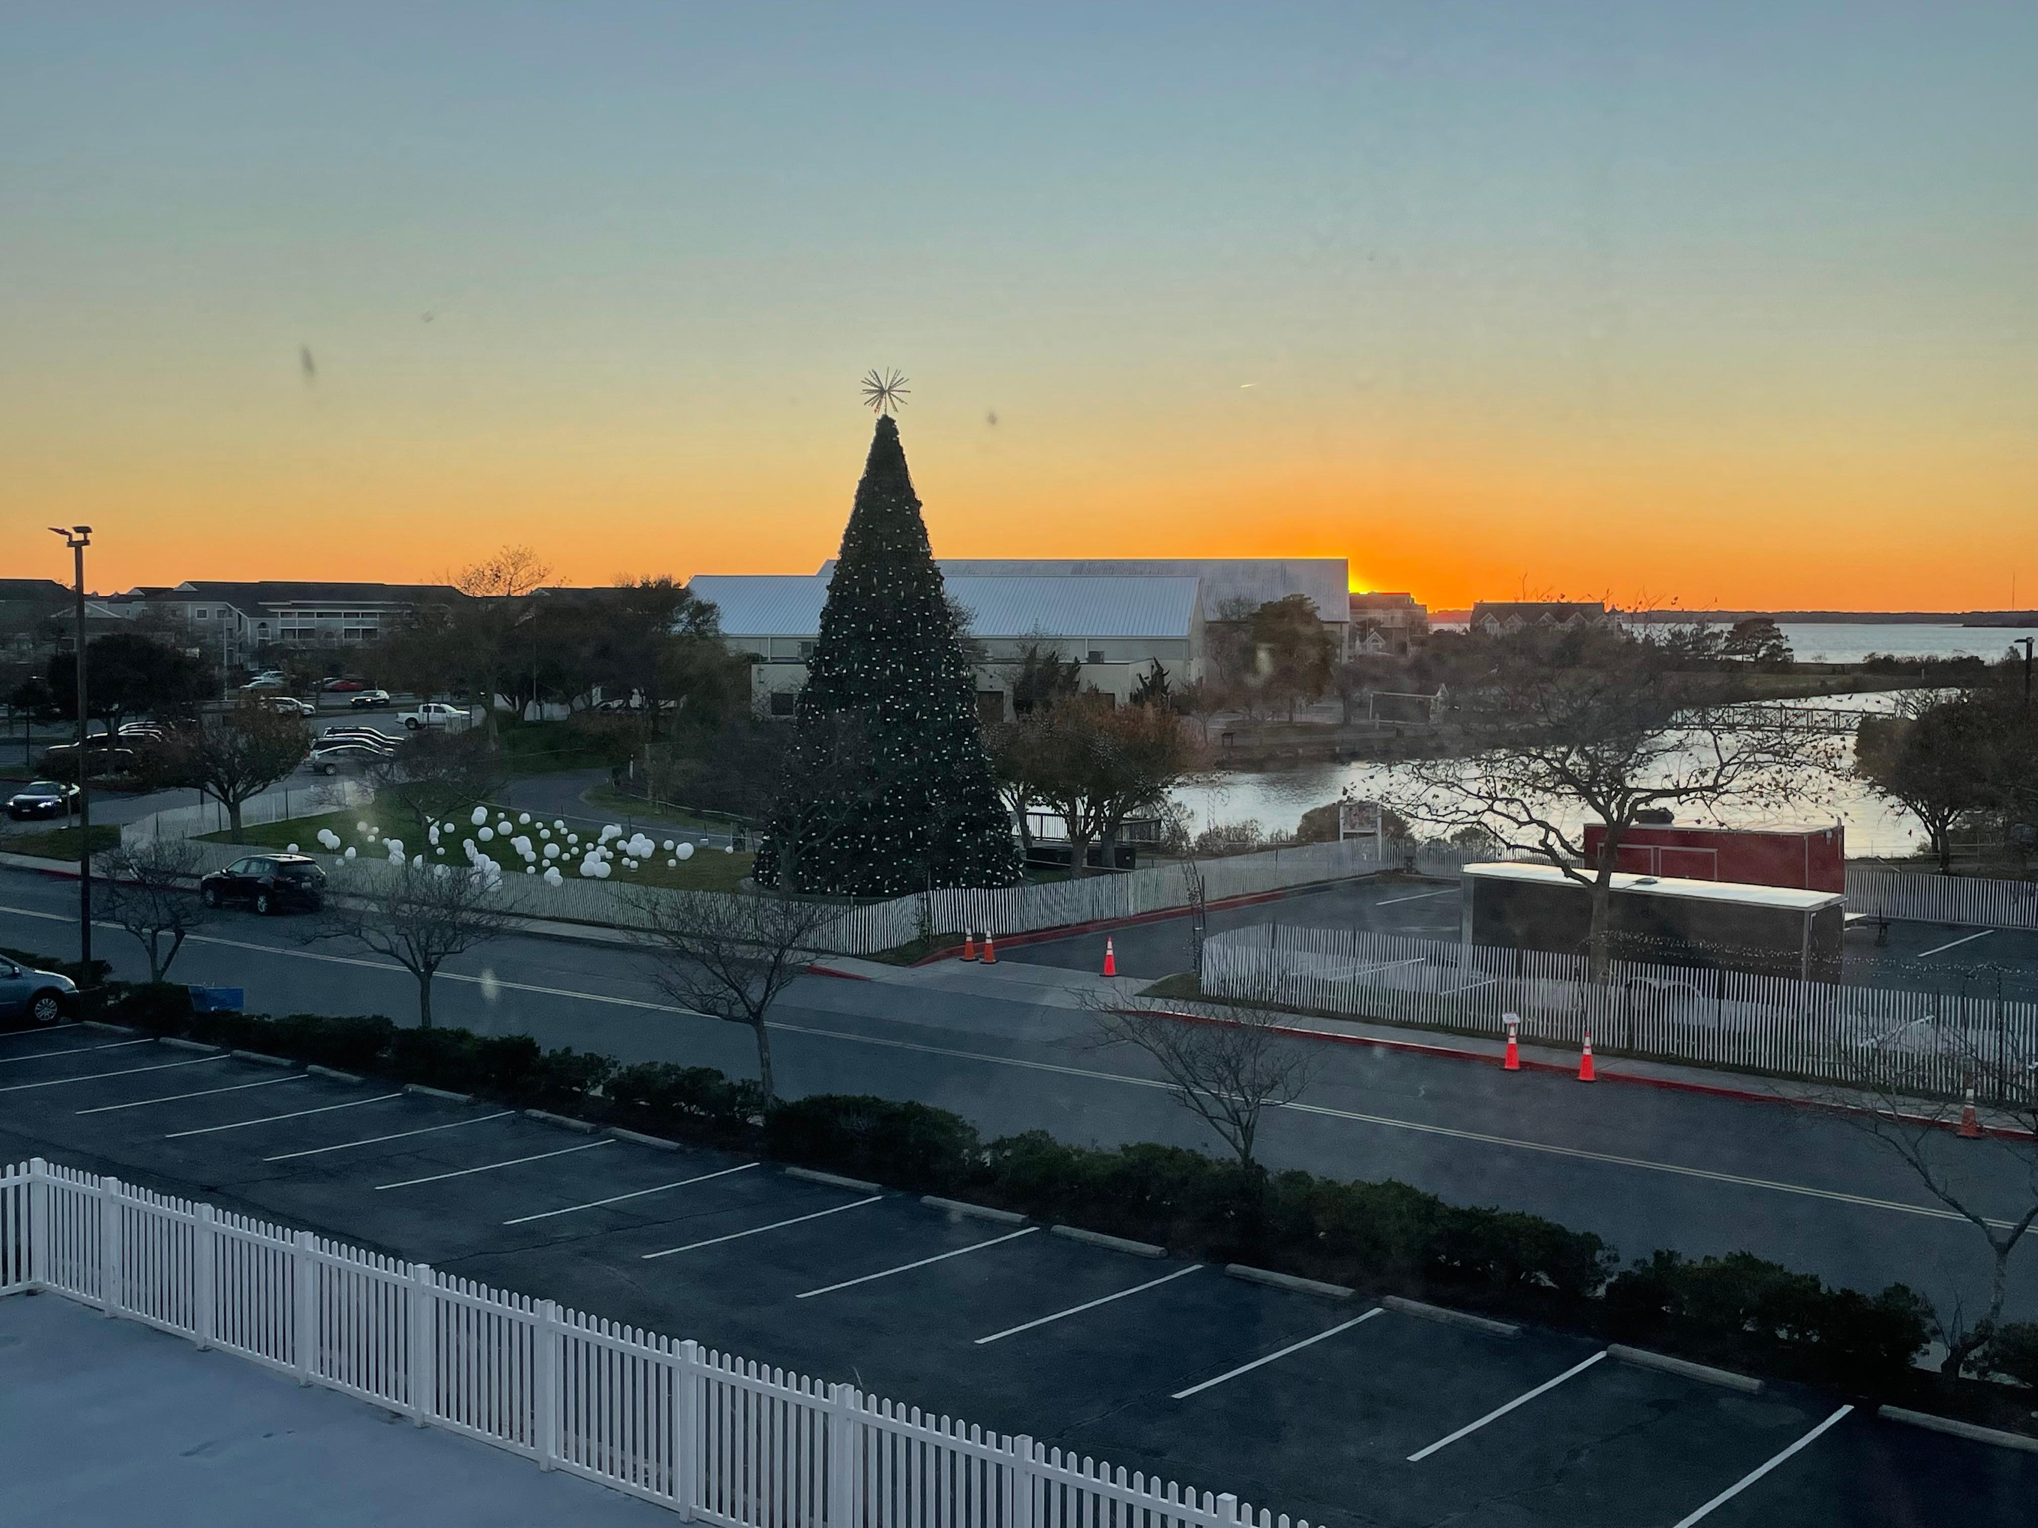
[[[1209,915],[1211,933],[1282,923],[1298,929],[1372,929],[1412,939],[1459,937],[1457,884],[1435,880],[1349,880],[1296,896],[1278,896]],[[1111,929],[1119,974],[1160,980],[1192,968],[1186,915]],[[1001,943],[999,960],[1096,970],[1103,933],[1039,943]],[[1891,921],[1846,933],[1846,980],[1991,998],[2038,998],[2038,933]]]

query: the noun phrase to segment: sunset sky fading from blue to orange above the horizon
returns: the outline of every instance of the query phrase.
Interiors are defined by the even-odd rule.
[[[8,6],[0,572],[2038,603],[2038,6]],[[310,357],[310,369],[306,367]]]

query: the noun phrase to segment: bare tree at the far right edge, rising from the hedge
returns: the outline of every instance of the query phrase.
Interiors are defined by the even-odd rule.
[[[1965,1006],[1956,1017],[1912,1021],[1836,1049],[1844,1086],[1826,1096],[1840,1118],[1887,1147],[1926,1194],[1973,1224],[1989,1247],[1989,1294],[1981,1316],[1969,1320],[1965,1300],[1936,1316],[1938,1339],[1946,1345],[1940,1373],[1946,1375],[1987,1371],[1985,1361],[1975,1361],[2003,1326],[2009,1257],[2038,1226],[2038,1053],[2018,1047],[1995,1023],[1965,1023]],[[1965,1078],[1961,1096],[1932,1096],[1930,1078],[1944,1076],[1948,1061],[1950,1072]],[[1989,1110],[1991,1129],[1979,1141],[1961,1141],[1956,1131],[1971,1098]],[[1983,1208],[1985,1202],[2001,1206],[2003,1176],[1983,1184],[1977,1155],[1995,1165],[2009,1161],[2007,1178],[2016,1186],[2007,1218]]]

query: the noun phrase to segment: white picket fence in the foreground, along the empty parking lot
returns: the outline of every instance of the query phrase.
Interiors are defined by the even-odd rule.
[[[1235,1495],[41,1157],[0,1171],[0,1294],[29,1290],[481,1438],[689,1522],[1308,1528]]]

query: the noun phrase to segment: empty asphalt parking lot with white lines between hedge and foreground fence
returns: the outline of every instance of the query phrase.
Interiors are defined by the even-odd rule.
[[[102,1027],[0,1035],[0,1157],[35,1153],[1329,1524],[2009,1524],[2038,1491],[2034,1455],[1814,1391]]]

